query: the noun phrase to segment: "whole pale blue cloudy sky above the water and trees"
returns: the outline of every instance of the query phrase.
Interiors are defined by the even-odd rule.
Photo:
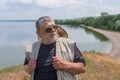
[[[1,19],[55,19],[119,14],[120,0],[0,0]]]

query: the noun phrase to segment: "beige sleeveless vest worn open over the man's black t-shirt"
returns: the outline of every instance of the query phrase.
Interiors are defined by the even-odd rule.
[[[40,41],[37,41],[32,44],[32,52],[28,54],[26,51],[26,57],[37,59]],[[56,41],[56,56],[66,60],[73,62],[74,60],[74,46],[75,42],[68,38],[59,38]],[[28,56],[29,55],[29,56]],[[65,71],[57,71],[58,80],[78,80],[76,75],[70,74]],[[34,72],[31,73],[30,80],[34,80]]]

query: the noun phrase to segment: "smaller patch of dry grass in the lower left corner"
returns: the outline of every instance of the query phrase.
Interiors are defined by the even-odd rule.
[[[0,70],[0,80],[28,80],[29,75],[24,71],[23,65],[13,66]]]

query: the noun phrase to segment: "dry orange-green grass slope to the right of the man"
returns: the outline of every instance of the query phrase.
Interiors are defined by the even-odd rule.
[[[81,80],[120,80],[120,63],[106,54],[84,52],[87,70]]]

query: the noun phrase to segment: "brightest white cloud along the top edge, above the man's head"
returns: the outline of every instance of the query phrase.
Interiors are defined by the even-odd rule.
[[[45,8],[69,7],[73,5],[81,6],[85,4],[84,0],[36,0],[35,2],[40,7]]]

